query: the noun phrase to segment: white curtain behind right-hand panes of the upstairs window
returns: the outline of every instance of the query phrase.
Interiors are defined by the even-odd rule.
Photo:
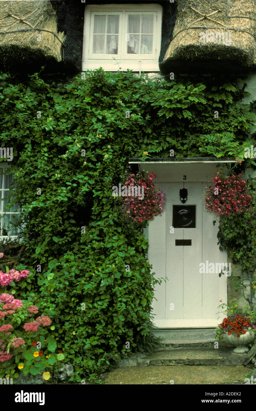
[[[129,14],[128,32],[130,40],[128,45],[131,51],[128,53],[151,54],[153,44],[153,16],[150,14]],[[133,34],[136,33],[136,34]],[[145,33],[145,34],[144,34]],[[141,46],[140,46],[141,40]]]

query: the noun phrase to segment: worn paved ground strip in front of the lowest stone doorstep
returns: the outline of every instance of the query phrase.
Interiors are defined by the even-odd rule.
[[[251,375],[252,369],[237,366],[149,366],[123,367],[102,374],[101,378],[108,385],[126,384],[244,384],[244,379]]]

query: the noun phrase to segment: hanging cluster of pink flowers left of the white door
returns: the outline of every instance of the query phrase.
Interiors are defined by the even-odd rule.
[[[157,214],[161,215],[161,211],[165,204],[165,195],[162,189],[156,189],[154,180],[156,180],[156,174],[142,171],[141,173],[130,174],[127,177],[125,185],[128,186],[141,186],[144,187],[144,198],[139,199],[138,196],[128,196],[124,198],[124,209],[130,218],[134,219],[138,224],[141,224],[143,220],[152,220]]]

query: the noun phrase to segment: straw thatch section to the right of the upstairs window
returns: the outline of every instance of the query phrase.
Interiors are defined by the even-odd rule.
[[[256,63],[254,0],[178,0],[178,16],[164,62]]]

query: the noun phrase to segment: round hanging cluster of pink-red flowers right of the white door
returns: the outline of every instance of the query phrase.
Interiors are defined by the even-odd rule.
[[[207,211],[219,215],[233,215],[248,211],[251,196],[246,193],[246,182],[242,174],[224,177],[217,171],[212,187],[209,187],[205,196]]]

